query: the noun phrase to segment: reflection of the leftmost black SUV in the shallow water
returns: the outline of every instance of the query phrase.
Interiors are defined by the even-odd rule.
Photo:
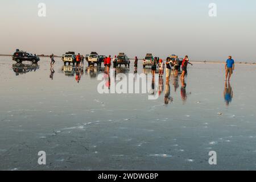
[[[32,72],[32,71],[35,72],[37,69],[39,69],[38,64],[21,64],[21,63],[13,64],[13,71],[15,72],[16,76],[19,76],[28,72]]]

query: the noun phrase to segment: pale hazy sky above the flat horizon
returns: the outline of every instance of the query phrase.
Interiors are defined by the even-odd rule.
[[[46,17],[38,4],[46,3]],[[208,15],[216,3],[217,17]],[[255,0],[1,0],[0,53],[126,52],[256,61]]]

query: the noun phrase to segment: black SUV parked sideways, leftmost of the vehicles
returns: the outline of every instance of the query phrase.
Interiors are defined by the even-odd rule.
[[[38,63],[38,61],[40,61],[38,56],[19,50],[17,50],[13,54],[13,60],[17,63],[22,63],[22,61],[31,61],[32,63]]]

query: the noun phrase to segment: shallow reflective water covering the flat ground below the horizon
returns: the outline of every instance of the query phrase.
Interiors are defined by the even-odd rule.
[[[0,169],[256,168],[255,65],[236,65],[230,83],[223,64],[195,63],[185,81],[152,79],[148,94],[100,94],[104,69],[41,60],[0,56]],[[115,74],[151,74],[138,65]]]

